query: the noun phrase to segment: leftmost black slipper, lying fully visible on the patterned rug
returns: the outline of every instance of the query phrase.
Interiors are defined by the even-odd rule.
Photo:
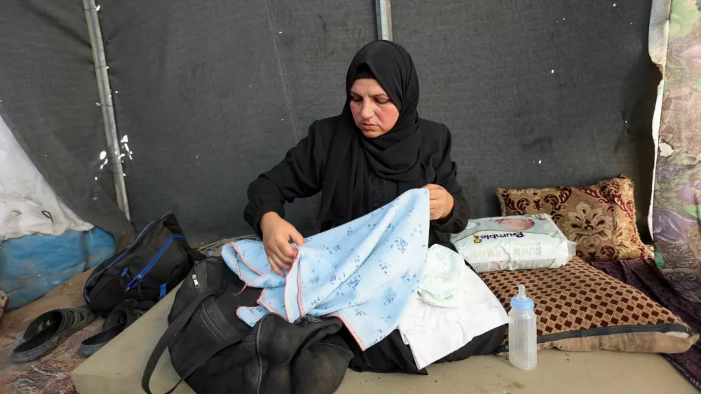
[[[10,353],[10,360],[28,362],[42,358],[93,320],[95,313],[86,306],[43,313],[15,341],[17,345]]]

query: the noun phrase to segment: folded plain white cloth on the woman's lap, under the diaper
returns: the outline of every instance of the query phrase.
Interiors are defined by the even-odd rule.
[[[450,261],[444,261],[444,264],[450,264]],[[462,264],[459,278],[463,292],[461,306],[442,308],[429,305],[415,294],[402,314],[399,330],[419,369],[465,346],[477,335],[509,321],[501,302],[476,273]]]

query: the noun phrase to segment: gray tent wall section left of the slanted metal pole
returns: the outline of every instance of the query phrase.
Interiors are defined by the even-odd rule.
[[[76,215],[133,233],[115,203],[81,1],[0,2],[0,116]]]

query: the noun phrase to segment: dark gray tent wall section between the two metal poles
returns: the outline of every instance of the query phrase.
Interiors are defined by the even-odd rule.
[[[247,184],[343,105],[372,1],[103,1],[132,218],[174,210],[196,241],[250,233]],[[287,213],[312,233],[311,201]]]

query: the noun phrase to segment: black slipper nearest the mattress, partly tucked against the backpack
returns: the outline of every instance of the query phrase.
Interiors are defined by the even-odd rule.
[[[104,318],[102,332],[98,332],[81,343],[81,355],[90,357],[97,353],[103,346],[107,345],[107,342],[123,332],[126,327],[129,327],[132,322],[135,322],[155,304],[151,301],[137,303],[128,299],[124,301],[124,304],[115,306],[107,318]]]

